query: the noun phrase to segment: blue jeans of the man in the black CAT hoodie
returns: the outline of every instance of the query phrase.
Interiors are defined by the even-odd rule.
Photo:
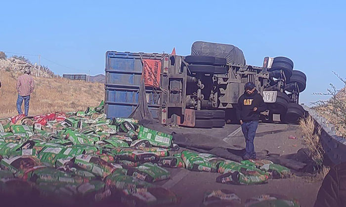
[[[256,135],[257,126],[259,125],[258,121],[250,121],[250,122],[244,122],[241,127],[242,131],[245,137],[246,141],[246,153],[245,156],[248,156],[249,158],[256,159],[256,152],[255,152],[255,146],[254,146],[254,139]]]

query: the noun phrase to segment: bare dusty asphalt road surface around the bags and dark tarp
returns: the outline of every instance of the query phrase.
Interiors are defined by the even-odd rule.
[[[208,134],[220,139],[225,147],[241,149],[245,147],[240,125],[226,125],[220,129],[174,129],[181,133]],[[289,136],[297,139],[289,139]],[[257,152],[268,150],[280,155],[296,153],[303,146],[302,135],[297,125],[260,123],[255,138]],[[302,207],[312,207],[321,186],[321,180],[293,176],[289,179],[270,179],[261,185],[229,185],[216,183],[218,173],[191,172],[186,169],[170,169],[171,179],[156,184],[172,189],[180,198],[181,207],[200,206],[203,195],[208,190],[228,189],[235,192],[245,203],[246,199],[265,193],[285,195],[297,199]]]

